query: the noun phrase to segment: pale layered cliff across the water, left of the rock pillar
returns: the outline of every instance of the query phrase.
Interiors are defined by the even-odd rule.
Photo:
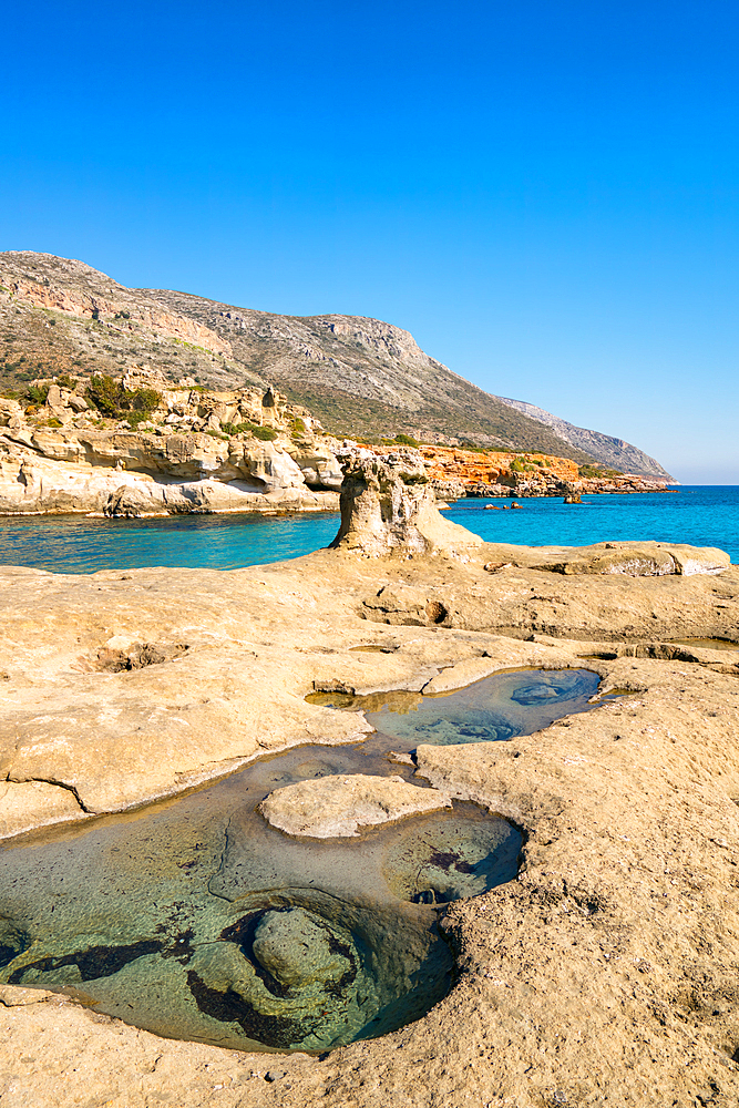
[[[82,394],[85,383],[52,382],[38,409],[0,401],[0,513],[338,506],[342,478],[333,451],[310,414],[273,389],[173,389],[156,375],[132,371],[123,378],[124,398],[142,390],[160,398],[132,427],[101,418]]]

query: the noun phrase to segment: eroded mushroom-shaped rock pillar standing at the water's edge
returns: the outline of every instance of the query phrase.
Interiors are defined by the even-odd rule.
[[[379,557],[458,553],[481,544],[478,535],[440,515],[418,451],[377,454],[353,448],[339,458],[341,526],[332,546]]]

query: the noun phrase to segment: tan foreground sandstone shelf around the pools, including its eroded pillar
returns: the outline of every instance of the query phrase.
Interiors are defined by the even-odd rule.
[[[0,985],[2,1096],[736,1104],[739,653],[690,640],[739,643],[739,568],[659,543],[481,543],[439,515],[415,455],[342,462],[333,550],[230,572],[0,567],[1,833],[32,847],[269,751],[361,742],[363,714],[307,700],[316,690],[443,694],[587,668],[604,698],[587,715],[412,756],[440,804],[474,801],[522,831],[517,879],[441,913],[458,974],[428,1015],[320,1057],[162,1039],[96,1013],[94,984]],[[404,811],[366,781],[324,780],[292,808],[281,794],[285,834],[361,838],[368,804]]]

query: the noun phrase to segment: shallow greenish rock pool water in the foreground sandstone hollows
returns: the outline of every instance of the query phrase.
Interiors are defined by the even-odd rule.
[[[594,707],[597,684],[587,670],[520,670],[442,697],[386,694],[347,705],[372,709],[365,742],[292,748],[183,798],[9,845],[0,982],[248,1049],[326,1050],[402,1026],[452,982],[438,905],[515,876],[520,831],[455,802],[359,839],[304,840],[257,804],[335,773],[422,784],[388,752],[531,733]]]

